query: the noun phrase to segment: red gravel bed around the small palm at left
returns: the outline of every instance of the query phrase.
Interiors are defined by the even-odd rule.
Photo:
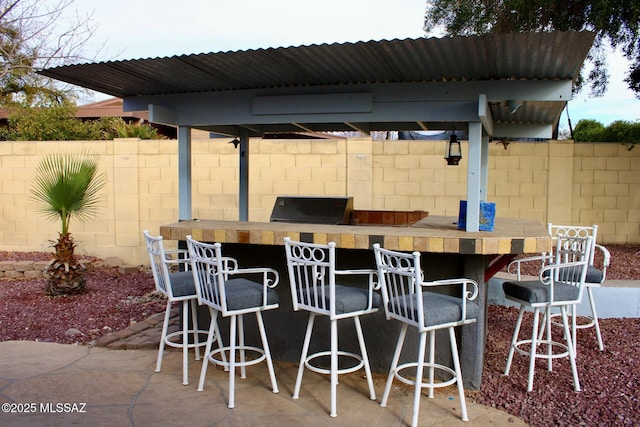
[[[0,252],[0,261],[50,258],[44,252]],[[118,267],[102,266],[89,270],[86,279],[86,293],[54,298],[44,294],[42,278],[0,280],[0,341],[87,344],[127,328],[132,320],[139,322],[162,312],[166,306],[158,298],[141,298],[155,291],[150,271],[124,275]],[[81,334],[65,334],[70,329]]]

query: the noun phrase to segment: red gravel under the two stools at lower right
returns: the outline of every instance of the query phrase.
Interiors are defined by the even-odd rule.
[[[528,358],[514,355],[504,376],[507,352],[518,310],[489,306],[487,348],[482,390],[470,399],[522,418],[531,426],[640,425],[640,321],[600,319],[605,349],[597,346],[593,329],[578,330],[578,375],[581,392],[573,390],[568,359],[556,359],[553,371],[538,361],[533,391],[527,392]],[[525,317],[522,332],[531,330]],[[560,337],[559,337],[560,338]]]

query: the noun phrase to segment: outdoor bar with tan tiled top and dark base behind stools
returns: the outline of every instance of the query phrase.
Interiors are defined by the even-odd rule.
[[[457,218],[427,216],[411,225],[399,226],[188,220],[161,226],[160,234],[166,240],[182,244],[187,235],[204,242],[220,242],[223,254],[237,258],[241,267],[268,266],[278,270],[280,283],[276,289],[280,308],[266,312],[265,323],[273,356],[291,362],[300,357],[307,313],[292,309],[284,237],[313,243],[335,242],[339,269],[375,268],[374,243],[392,250],[421,252],[426,280],[467,277],[480,286],[478,303],[485,309],[475,324],[461,328],[458,333],[464,382],[476,390],[481,386],[484,361],[488,279],[518,254],[551,249],[551,238],[542,223],[515,218],[496,218],[494,231],[469,233],[457,229]],[[346,326],[342,328],[344,331],[340,330],[341,347],[357,342],[353,328]],[[387,321],[381,308],[378,313],[363,317],[362,326],[371,368],[386,373],[399,322]],[[328,348],[328,327],[326,330],[326,337],[314,334],[312,346],[324,339]],[[417,354],[416,344],[417,334],[415,338],[407,335],[405,352],[413,358]],[[443,347],[448,346],[439,346]],[[438,357],[447,354],[439,353]]]

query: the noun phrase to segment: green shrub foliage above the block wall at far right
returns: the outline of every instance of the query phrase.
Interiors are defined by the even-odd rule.
[[[640,143],[640,122],[617,120],[604,126],[596,120],[580,120],[573,131],[576,142]]]

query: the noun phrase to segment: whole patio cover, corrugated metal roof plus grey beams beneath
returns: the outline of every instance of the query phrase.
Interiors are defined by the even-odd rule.
[[[465,112],[473,113],[473,102],[485,94],[491,119],[496,124],[507,123],[511,130],[502,127],[500,132],[512,135],[512,124],[521,125],[515,133],[525,129],[523,125],[548,128],[557,124],[570,94],[545,91],[553,92],[558,82],[570,87],[593,39],[591,32],[569,31],[335,43],[67,65],[40,74],[124,98],[125,105],[133,109],[150,104],[166,107],[173,116],[154,116],[164,124],[234,135],[241,129],[251,135],[346,131],[354,129],[354,122],[355,128],[363,131],[464,128],[480,119],[471,119]],[[541,81],[546,88],[540,89]],[[441,82],[445,82],[445,89]],[[463,84],[457,82],[471,82],[464,84],[465,99],[447,99],[451,90],[458,90],[461,97]],[[535,88],[518,93],[521,108],[513,113],[505,104],[514,96],[514,85],[521,83]],[[412,89],[400,93],[397,86],[387,84]],[[469,92],[474,85],[486,92]],[[408,93],[416,90],[414,86],[422,91],[419,99]],[[388,91],[381,99],[372,95],[375,108],[365,111],[360,105],[350,114],[343,111],[344,106],[335,105],[325,111],[307,108],[318,114],[305,115],[298,103],[302,97],[296,100],[295,111],[288,114],[282,108],[279,113],[256,112],[251,104],[254,97],[265,94],[353,94],[383,88]],[[433,90],[438,93],[431,96]],[[389,104],[390,92],[393,106]],[[180,94],[183,96],[172,96]],[[248,97],[243,98],[245,95]],[[229,101],[230,97],[234,101]],[[448,101],[463,104],[456,109]],[[214,105],[216,102],[221,104]],[[307,102],[312,101],[307,98]],[[275,107],[273,102],[269,105]],[[211,110],[203,114],[203,108]],[[499,132],[494,135],[501,136]]]

